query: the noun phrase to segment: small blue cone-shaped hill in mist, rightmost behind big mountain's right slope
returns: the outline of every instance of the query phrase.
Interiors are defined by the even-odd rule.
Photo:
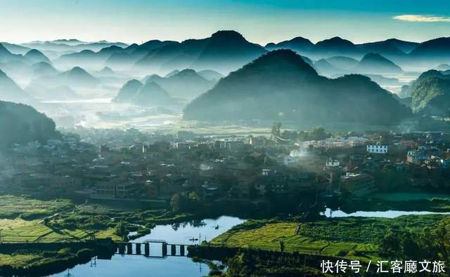
[[[401,73],[403,70],[398,65],[394,64],[387,58],[380,54],[368,53],[364,55],[362,60],[354,68],[356,72],[363,73]]]

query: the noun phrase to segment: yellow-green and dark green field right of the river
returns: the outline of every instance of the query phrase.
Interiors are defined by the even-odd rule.
[[[214,238],[210,243],[279,251],[280,241],[283,241],[287,252],[335,255],[360,260],[378,259],[378,244],[390,229],[419,232],[424,227],[435,226],[444,217],[347,217],[304,223],[248,220]],[[295,234],[299,224],[299,232]]]

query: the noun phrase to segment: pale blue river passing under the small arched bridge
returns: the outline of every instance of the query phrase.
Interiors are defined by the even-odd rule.
[[[191,238],[201,236],[202,240],[210,241],[243,223],[238,217],[221,216],[217,219],[184,222],[181,224],[157,225],[151,234],[136,238],[132,242],[139,243],[149,239],[164,240],[167,243],[182,243],[185,245],[198,243]],[[217,228],[218,227],[218,228]],[[160,245],[151,245],[150,252],[158,255]],[[207,264],[193,262],[188,257],[166,257],[165,259],[147,258],[137,255],[113,255],[112,259],[93,259],[86,264],[79,264],[73,269],[52,276],[205,276],[210,269]],[[70,274],[70,275],[68,275]]]

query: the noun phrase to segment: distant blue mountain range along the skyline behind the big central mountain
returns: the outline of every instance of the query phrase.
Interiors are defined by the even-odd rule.
[[[197,71],[212,69],[228,74],[246,63],[255,60],[269,50],[290,49],[312,60],[326,60],[337,69],[347,70],[328,60],[333,57],[361,60],[369,53],[379,54],[399,67],[436,67],[450,62],[450,38],[437,38],[422,43],[387,39],[355,44],[347,39],[335,36],[312,43],[309,39],[297,36],[278,43],[259,46],[247,41],[235,31],[219,31],[205,39],[187,39],[186,41],[150,40],[142,44],[120,42],[84,42],[77,39],[56,41],[33,41],[20,45],[4,43],[4,49],[10,52],[9,59],[25,56],[32,49],[49,58],[51,62],[65,67],[95,67],[100,70],[107,66],[113,70],[141,70],[172,72],[174,69],[192,68]],[[0,49],[0,62],[2,59]],[[39,60],[44,61],[44,60]],[[49,61],[46,61],[49,62]],[[329,67],[321,61],[319,65]],[[342,64],[341,64],[342,65]]]

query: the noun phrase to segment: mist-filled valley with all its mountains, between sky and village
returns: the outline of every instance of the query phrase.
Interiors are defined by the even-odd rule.
[[[430,100],[437,96],[423,91],[432,86],[439,90],[433,95],[448,95],[449,64],[448,38],[312,43],[298,36],[262,46],[238,32],[218,31],[181,42],[4,42],[0,100],[30,104],[60,127],[145,128],[143,119],[169,128],[311,118],[392,125],[417,114],[449,115],[446,104],[435,107]],[[274,98],[281,102],[270,107]]]

